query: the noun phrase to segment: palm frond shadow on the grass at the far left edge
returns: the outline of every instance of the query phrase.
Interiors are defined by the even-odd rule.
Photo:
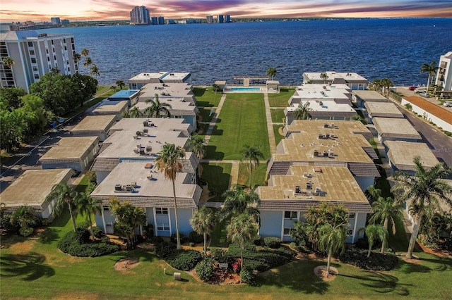
[[[23,277],[24,281],[55,275],[55,270],[44,265],[45,256],[30,252],[28,254],[5,254],[0,258],[2,277]]]

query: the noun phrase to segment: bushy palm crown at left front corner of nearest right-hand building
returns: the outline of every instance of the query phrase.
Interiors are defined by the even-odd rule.
[[[222,197],[225,198],[225,202],[218,211],[220,220],[225,220],[230,215],[247,213],[254,218],[256,223],[259,223],[259,212],[254,209],[254,206],[258,206],[260,203],[258,194],[252,191],[247,193],[242,187],[236,185],[234,189],[223,192]]]

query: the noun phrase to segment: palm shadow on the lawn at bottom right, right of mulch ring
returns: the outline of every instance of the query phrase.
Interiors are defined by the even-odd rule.
[[[396,292],[400,296],[408,296],[410,294],[410,290],[408,287],[412,287],[412,285],[400,284],[398,283],[398,277],[380,273],[380,272],[371,272],[367,271],[367,275],[359,276],[359,275],[344,275],[338,274],[338,277],[350,277],[356,280],[359,280],[359,285],[363,287],[368,287],[377,293],[391,293]]]

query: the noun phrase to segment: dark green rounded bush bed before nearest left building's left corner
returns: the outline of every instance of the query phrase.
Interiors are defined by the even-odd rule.
[[[89,237],[90,232],[87,229],[68,232],[58,242],[58,249],[71,256],[81,257],[103,256],[119,251],[119,245],[109,242],[107,237],[96,241],[90,241]]]

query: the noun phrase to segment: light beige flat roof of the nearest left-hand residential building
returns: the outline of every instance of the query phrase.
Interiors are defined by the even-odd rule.
[[[111,173],[100,182],[91,196],[102,199],[107,205],[109,199],[117,196],[119,200],[131,201],[133,205],[142,207],[174,207],[172,181],[155,167],[145,168],[146,163],[119,163]],[[151,180],[152,177],[152,180]],[[187,173],[177,173],[175,187],[179,208],[196,208],[201,197],[201,187],[189,184]],[[133,192],[115,192],[115,185],[131,185],[136,183]]]

